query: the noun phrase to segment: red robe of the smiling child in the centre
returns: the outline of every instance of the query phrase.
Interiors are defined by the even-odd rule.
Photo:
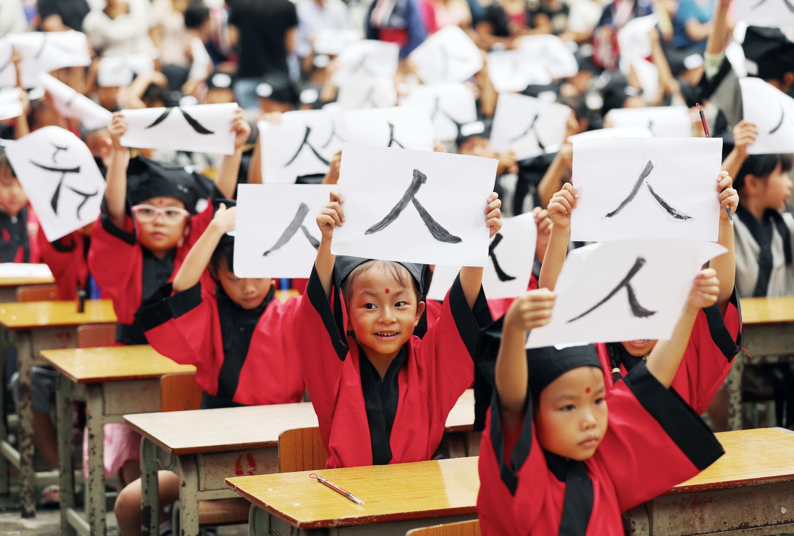
[[[407,356],[397,372],[399,397],[386,438],[391,447],[388,463],[430,460],[441,442],[449,411],[472,385],[478,321],[490,320],[484,295],[480,291],[474,310],[469,309],[456,280],[442,309],[422,339],[411,336],[403,347]],[[483,313],[487,320],[480,317]],[[338,287],[334,286],[333,303],[329,303],[313,268],[296,332],[303,334],[297,337],[298,355],[330,454],[326,464],[330,469],[372,465],[373,460],[370,426],[374,425],[368,421],[359,347],[355,337],[345,334],[346,322]]]

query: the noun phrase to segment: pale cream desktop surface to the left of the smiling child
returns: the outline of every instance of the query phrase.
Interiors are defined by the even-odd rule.
[[[141,413],[124,420],[172,454],[276,447],[284,430],[318,426],[310,402]]]

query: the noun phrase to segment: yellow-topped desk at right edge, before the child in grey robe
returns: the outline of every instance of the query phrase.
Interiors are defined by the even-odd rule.
[[[742,372],[746,364],[794,361],[794,296],[742,298],[743,345],[728,373],[728,426],[742,430]]]

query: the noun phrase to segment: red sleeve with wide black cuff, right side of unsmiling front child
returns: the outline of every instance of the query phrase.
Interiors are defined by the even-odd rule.
[[[594,461],[615,485],[620,511],[668,492],[723,455],[676,391],[638,364],[607,394],[609,427]]]

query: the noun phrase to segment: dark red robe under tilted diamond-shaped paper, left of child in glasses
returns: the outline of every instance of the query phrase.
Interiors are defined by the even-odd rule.
[[[88,260],[86,257],[86,237],[74,231],[54,242],[39,233],[41,258],[50,268],[58,285],[58,299],[75,299],[77,285],[86,290],[88,281]]]

